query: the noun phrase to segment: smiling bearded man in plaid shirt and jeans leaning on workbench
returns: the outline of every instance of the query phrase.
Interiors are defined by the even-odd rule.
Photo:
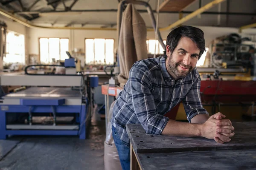
[[[209,117],[201,104],[201,79],[195,66],[204,51],[204,32],[180,26],[168,35],[163,57],[134,63],[111,118],[124,170],[130,169],[130,141],[125,130],[129,123],[140,123],[146,133],[156,135],[203,136],[218,143],[230,142],[234,135],[230,120],[221,113]],[[190,123],[164,116],[181,101]]]

